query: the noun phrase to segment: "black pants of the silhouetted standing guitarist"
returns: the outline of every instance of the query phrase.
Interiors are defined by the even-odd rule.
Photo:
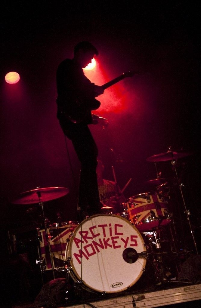
[[[81,163],[78,192],[78,206],[89,215],[100,213],[96,166],[98,148],[87,124],[74,124],[68,120],[59,121],[64,134],[72,144]]]

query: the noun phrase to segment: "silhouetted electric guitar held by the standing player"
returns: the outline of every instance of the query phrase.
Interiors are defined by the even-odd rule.
[[[105,90],[126,77],[132,77],[134,74],[138,74],[138,72],[129,71],[127,73],[123,73],[122,75],[103,84],[101,87]],[[83,97],[77,97],[71,102],[71,111],[64,112],[64,115],[72,123],[81,123],[84,120],[89,119],[91,117],[91,111],[98,109],[100,106],[101,103],[95,98],[85,99]]]

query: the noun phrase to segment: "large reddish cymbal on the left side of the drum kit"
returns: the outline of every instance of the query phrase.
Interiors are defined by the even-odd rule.
[[[65,187],[37,188],[18,194],[10,202],[13,204],[34,204],[51,201],[63,197],[68,193],[69,189]]]

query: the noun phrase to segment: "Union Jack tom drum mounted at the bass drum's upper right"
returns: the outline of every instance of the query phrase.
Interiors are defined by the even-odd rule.
[[[140,193],[125,203],[129,220],[139,231],[149,231],[170,223],[167,203],[157,193]]]

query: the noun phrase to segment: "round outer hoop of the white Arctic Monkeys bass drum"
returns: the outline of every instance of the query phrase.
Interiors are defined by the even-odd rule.
[[[109,216],[109,217],[112,216],[112,217],[117,217],[117,218],[121,218],[122,220],[124,220],[124,221],[125,221],[126,223],[128,223],[131,227],[133,227],[133,229],[135,229],[135,231],[137,232],[137,234],[139,235],[139,237],[140,237],[140,239],[141,239],[141,241],[142,241],[142,244],[144,245],[144,251],[147,251],[147,249],[146,249],[146,243],[145,243],[145,241],[144,241],[144,239],[143,239],[143,237],[142,237],[140,231],[137,229],[137,227],[135,227],[135,225],[134,225],[131,221],[125,219],[125,218],[122,217],[122,216],[116,215],[116,214],[105,214],[105,213],[103,213],[103,214],[95,214],[95,215],[92,215],[92,216],[90,216],[90,217],[85,218],[85,219],[84,219],[83,221],[81,221],[81,223],[73,230],[73,232],[72,232],[73,234],[72,234],[72,236],[70,237],[70,239],[69,239],[69,241],[68,241],[68,243],[67,243],[67,245],[66,245],[65,260],[67,261],[68,258],[70,257],[70,260],[68,261],[68,262],[69,262],[69,265],[70,265],[70,267],[71,267],[70,275],[71,275],[71,277],[72,277],[72,279],[73,279],[74,281],[75,281],[75,278],[77,279],[77,281],[75,281],[75,282],[82,281],[82,283],[83,283],[83,285],[84,285],[84,288],[85,288],[86,290],[88,290],[88,291],[90,291],[90,292],[100,292],[100,293],[106,293],[106,294],[110,294],[110,293],[121,293],[122,291],[128,290],[128,288],[132,287],[132,286],[141,278],[141,276],[142,276],[142,274],[143,274],[143,272],[144,272],[144,270],[145,270],[145,267],[146,267],[146,262],[147,262],[146,258],[143,259],[142,269],[141,269],[139,275],[136,277],[136,279],[135,279],[129,286],[126,286],[125,288],[123,288],[123,289],[121,289],[121,290],[117,290],[117,291],[101,291],[101,290],[98,290],[98,289],[95,289],[95,288],[92,289],[92,287],[89,286],[84,280],[81,280],[81,277],[78,275],[78,273],[77,273],[77,271],[76,271],[76,268],[75,268],[75,266],[73,265],[73,262],[72,262],[72,260],[71,260],[70,251],[72,250],[72,243],[73,243],[74,234],[77,232],[77,230],[78,230],[79,228],[81,228],[81,225],[82,225],[85,221],[88,221],[88,220],[90,220],[90,219],[92,219],[92,218],[94,218],[94,217],[98,217],[98,216]]]

